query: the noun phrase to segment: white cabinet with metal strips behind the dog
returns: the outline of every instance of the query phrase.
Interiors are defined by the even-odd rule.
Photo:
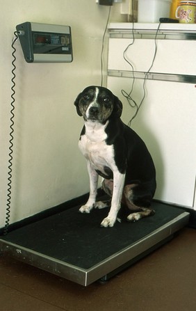
[[[131,35],[131,31],[123,31],[120,29],[122,25],[117,24],[117,28],[111,29],[108,88],[121,99],[124,106],[122,120],[127,124],[136,110],[129,106],[122,95],[122,90],[130,92],[133,83],[131,66],[123,58],[124,49],[131,38],[122,37]],[[196,25],[192,27],[194,26],[196,33]],[[174,33],[176,31],[177,29]],[[135,38],[134,44],[127,51],[136,75],[131,97],[138,104],[144,92],[144,80],[139,78],[145,76],[154,56],[152,35],[149,39]],[[155,198],[194,208],[196,37],[192,33],[191,40],[184,39],[179,35],[179,39],[157,40],[154,66],[148,75],[149,79],[145,81],[145,100],[131,127],[143,138],[154,158],[157,173]]]

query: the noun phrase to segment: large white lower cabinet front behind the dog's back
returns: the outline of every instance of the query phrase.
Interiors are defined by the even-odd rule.
[[[122,120],[127,124],[135,109],[121,90],[131,90],[130,78],[108,77],[108,88],[123,104]],[[132,97],[139,104],[143,80],[137,79]],[[196,154],[196,88],[194,84],[146,81],[147,95],[131,127],[142,137],[156,166],[155,198],[193,207]]]

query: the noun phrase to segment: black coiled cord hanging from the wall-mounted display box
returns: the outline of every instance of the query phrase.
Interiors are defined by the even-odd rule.
[[[13,38],[13,42],[12,42],[12,48],[13,48],[13,61],[12,61],[12,65],[13,65],[13,70],[12,70],[12,74],[13,74],[13,78],[11,79],[13,86],[11,87],[12,90],[12,94],[11,94],[11,98],[12,101],[10,102],[10,140],[9,140],[9,154],[8,154],[8,189],[7,189],[7,204],[6,204],[6,222],[5,222],[5,227],[3,228],[3,234],[7,234],[8,233],[8,227],[10,225],[10,205],[11,205],[11,194],[12,194],[12,172],[13,172],[13,133],[14,133],[14,118],[15,118],[15,114],[14,114],[14,110],[15,110],[15,70],[16,70],[16,66],[15,66],[15,61],[16,61],[16,57],[15,57],[15,52],[16,49],[14,47],[15,42],[17,41],[18,35],[17,35],[17,31],[15,31],[14,33],[15,37]]]

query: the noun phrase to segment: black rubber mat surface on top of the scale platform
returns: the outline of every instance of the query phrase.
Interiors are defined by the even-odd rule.
[[[113,228],[100,227],[108,209],[81,214],[79,207],[73,207],[13,230],[1,239],[89,269],[183,213],[182,209],[160,202],[153,202],[152,207],[156,211],[154,216],[136,223],[122,217],[122,222],[115,223]]]

